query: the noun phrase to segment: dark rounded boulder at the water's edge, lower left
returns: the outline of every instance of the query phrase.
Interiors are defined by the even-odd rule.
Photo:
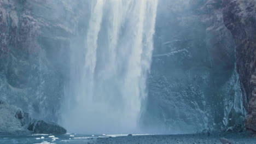
[[[66,134],[67,130],[56,123],[33,120],[28,124],[28,130],[34,134]]]

